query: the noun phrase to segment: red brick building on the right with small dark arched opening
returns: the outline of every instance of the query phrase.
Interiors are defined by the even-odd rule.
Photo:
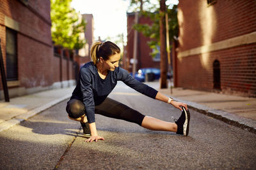
[[[179,1],[175,85],[256,97],[256,1]]]

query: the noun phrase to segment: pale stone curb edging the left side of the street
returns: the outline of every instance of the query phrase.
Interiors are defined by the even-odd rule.
[[[42,106],[39,106],[33,110],[30,110],[26,113],[23,113],[17,117],[13,117],[10,120],[7,120],[0,124],[0,132],[5,131],[6,129],[9,129],[10,127],[13,127],[13,125],[20,124],[20,122],[23,122],[24,120],[27,120],[28,118],[31,118],[35,116],[36,114],[47,110],[48,108],[51,108],[52,106],[61,103],[61,101],[65,101],[66,99],[70,98],[70,95],[60,97],[59,99],[55,99],[54,101],[51,101],[50,103],[44,104]]]

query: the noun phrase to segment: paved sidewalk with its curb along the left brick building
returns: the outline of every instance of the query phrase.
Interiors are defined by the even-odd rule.
[[[72,86],[14,97],[9,103],[0,101],[0,132],[68,99],[74,88]]]

